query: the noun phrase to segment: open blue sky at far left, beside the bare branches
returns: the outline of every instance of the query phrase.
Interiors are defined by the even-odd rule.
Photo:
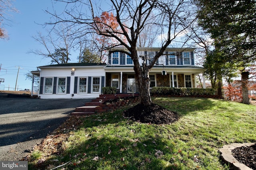
[[[55,3],[52,3],[52,0],[16,0],[13,1],[13,6],[19,13],[12,13],[11,26],[4,26],[9,40],[0,39],[0,78],[4,79],[4,83],[0,84],[0,90],[8,90],[8,87],[9,90],[14,90],[18,66],[20,71],[16,88],[31,89],[32,81],[26,80],[25,74],[36,70],[38,66],[50,64],[50,59],[43,59],[28,52],[32,49],[44,49],[32,36],[36,36],[37,32],[44,34],[45,28],[39,24],[50,20],[50,15],[44,11],[52,10],[52,6],[57,9]]]

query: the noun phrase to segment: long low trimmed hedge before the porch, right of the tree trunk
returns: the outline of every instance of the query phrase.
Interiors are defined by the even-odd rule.
[[[173,87],[152,87],[150,90],[152,95],[214,95],[215,89],[199,89],[199,88],[173,88]]]

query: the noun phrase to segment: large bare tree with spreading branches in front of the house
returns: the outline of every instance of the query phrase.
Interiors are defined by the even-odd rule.
[[[58,0],[64,2],[64,0]],[[56,17],[55,21],[48,24],[58,24],[60,22],[69,22],[72,26],[80,26],[80,34],[84,32],[94,32],[100,36],[114,39],[115,41],[105,49],[110,52],[113,47],[122,47],[115,50],[126,53],[131,56],[134,63],[134,71],[138,82],[140,92],[140,103],[144,106],[152,104],[149,93],[149,71],[155,65],[157,59],[163,55],[165,49],[172,45],[171,43],[178,36],[186,31],[188,26],[194,21],[194,10],[191,10],[192,4],[186,0],[110,0],[109,11],[113,12],[115,20],[118,23],[117,27],[113,27],[110,22],[98,20],[102,8],[94,4],[101,2],[88,2],[82,0],[68,0],[67,5],[72,4],[72,9],[65,10],[66,16],[60,16],[55,13],[50,13]],[[88,14],[90,9],[91,13]],[[79,9],[78,9],[79,8]],[[104,3],[104,9],[106,3]],[[100,11],[100,12],[99,12]],[[107,11],[107,10],[105,10]],[[114,21],[113,19],[113,21]],[[104,25],[104,29],[102,29]],[[162,37],[162,41],[158,44],[160,49],[158,53],[151,58],[150,62],[146,62],[148,55],[138,56],[136,47],[139,45],[139,37],[147,26],[157,27],[157,36]],[[84,30],[82,30],[84,29]],[[83,34],[81,34],[82,36]],[[142,59],[142,65],[139,59]]]

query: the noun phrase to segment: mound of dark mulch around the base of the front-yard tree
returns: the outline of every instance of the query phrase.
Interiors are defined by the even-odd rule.
[[[179,119],[177,113],[169,111],[162,106],[152,103],[149,107],[138,104],[126,111],[124,116],[141,123],[170,124]]]

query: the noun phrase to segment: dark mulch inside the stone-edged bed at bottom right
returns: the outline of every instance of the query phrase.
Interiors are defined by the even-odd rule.
[[[242,146],[232,150],[232,154],[238,162],[256,170],[256,144],[248,147]]]

